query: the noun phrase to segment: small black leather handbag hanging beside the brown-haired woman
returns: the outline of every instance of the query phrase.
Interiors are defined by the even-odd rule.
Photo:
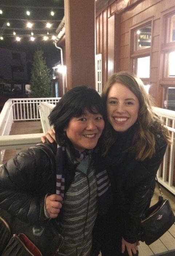
[[[158,202],[144,212],[140,223],[139,240],[147,245],[158,240],[175,222],[170,202],[168,199],[163,199],[160,186],[159,191]]]

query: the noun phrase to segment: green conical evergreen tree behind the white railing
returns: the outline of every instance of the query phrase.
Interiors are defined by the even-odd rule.
[[[51,97],[51,80],[49,78],[50,69],[47,67],[43,57],[43,51],[37,49],[33,55],[31,70],[31,97],[47,98]]]

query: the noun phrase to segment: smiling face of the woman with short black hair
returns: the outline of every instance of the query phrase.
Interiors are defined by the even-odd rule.
[[[103,129],[103,116],[85,111],[80,117],[71,118],[64,131],[75,149],[83,152],[95,148]]]

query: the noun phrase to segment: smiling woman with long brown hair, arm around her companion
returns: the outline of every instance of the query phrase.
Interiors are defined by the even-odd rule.
[[[94,256],[99,251],[102,256],[138,255],[140,220],[150,206],[170,136],[137,76],[112,75],[102,100],[106,107],[102,160],[111,181],[113,205],[106,217],[96,219],[92,251]],[[49,133],[54,138],[54,132]]]

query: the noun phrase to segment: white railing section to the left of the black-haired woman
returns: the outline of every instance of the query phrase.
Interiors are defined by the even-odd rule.
[[[4,139],[6,139],[6,135],[8,136],[12,123],[14,121],[35,121],[40,120],[40,113],[39,113],[39,105],[41,102],[48,102],[52,104],[56,104],[60,98],[28,98],[28,99],[8,99],[5,102],[3,110],[0,113],[0,136],[3,136],[3,139],[0,139],[0,163],[3,160],[5,149],[7,147]],[[53,105],[52,105],[53,106]],[[47,117],[45,117],[47,119]],[[42,125],[43,126],[43,125]],[[31,144],[36,144],[40,141],[40,136],[34,136],[32,134],[29,135],[31,138],[35,138],[35,142],[31,142]],[[23,144],[25,147],[28,147],[31,144],[25,140],[28,138],[26,135],[13,135],[12,137],[9,136],[9,140],[11,140],[11,148],[15,148],[17,144]],[[14,143],[14,144],[13,144]],[[16,152],[18,152],[19,147],[16,148]]]

